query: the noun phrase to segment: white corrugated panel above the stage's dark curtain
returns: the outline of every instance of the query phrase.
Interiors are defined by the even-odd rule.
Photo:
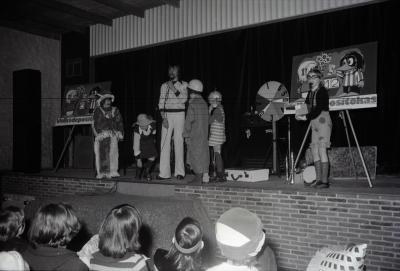
[[[382,1],[382,0],[380,0]],[[329,12],[379,0],[180,0],[90,27],[90,56]]]

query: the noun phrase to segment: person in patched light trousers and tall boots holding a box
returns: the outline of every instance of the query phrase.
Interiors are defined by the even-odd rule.
[[[307,94],[306,105],[308,113],[297,115],[297,120],[311,121],[311,152],[314,160],[316,180],[310,186],[329,188],[329,160],[327,149],[331,145],[332,120],[329,115],[329,95],[322,81],[322,72],[312,68],[307,74],[310,91]]]

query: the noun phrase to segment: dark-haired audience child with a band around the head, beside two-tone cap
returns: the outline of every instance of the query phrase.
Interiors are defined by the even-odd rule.
[[[157,249],[154,263],[159,271],[195,271],[200,268],[203,233],[197,220],[185,217],[177,226],[169,251]]]

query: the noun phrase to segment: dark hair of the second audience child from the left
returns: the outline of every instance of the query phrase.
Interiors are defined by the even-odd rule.
[[[66,246],[79,232],[81,224],[71,205],[51,203],[39,208],[28,231],[34,245]]]

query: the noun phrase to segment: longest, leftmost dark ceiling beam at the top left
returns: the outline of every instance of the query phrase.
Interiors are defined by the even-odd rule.
[[[64,4],[55,0],[31,0],[31,3],[37,3],[43,7],[47,7],[62,13],[67,13],[69,15],[73,15],[76,17],[84,18],[93,23],[100,23],[110,26],[112,25],[112,20],[105,16],[84,9],[80,9],[68,4]]]

